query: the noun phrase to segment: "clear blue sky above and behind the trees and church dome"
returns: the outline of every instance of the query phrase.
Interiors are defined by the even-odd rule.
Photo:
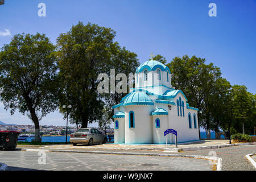
[[[46,17],[38,16],[38,4],[46,4]],[[209,3],[217,5],[210,17]],[[230,83],[256,92],[256,0],[5,0],[0,6],[0,47],[22,32],[46,34],[55,44],[60,33],[82,21],[111,27],[115,40],[137,53],[143,63],[151,52],[172,60],[196,55],[221,68]],[[7,33],[6,33],[7,34]],[[18,112],[10,116],[0,104],[0,121],[31,123]],[[62,116],[51,113],[43,125],[64,125]]]

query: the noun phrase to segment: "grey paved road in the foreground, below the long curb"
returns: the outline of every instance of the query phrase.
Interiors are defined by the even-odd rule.
[[[46,164],[42,153],[30,151],[0,151],[0,162],[7,164],[11,171],[30,170],[107,170],[107,171],[180,171],[212,170],[209,161],[194,158],[176,158],[140,155],[78,154],[46,152]]]

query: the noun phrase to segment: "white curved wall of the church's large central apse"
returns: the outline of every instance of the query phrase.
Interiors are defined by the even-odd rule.
[[[151,110],[148,105],[125,107],[125,143],[152,143]],[[129,113],[134,112],[134,128],[129,128]]]

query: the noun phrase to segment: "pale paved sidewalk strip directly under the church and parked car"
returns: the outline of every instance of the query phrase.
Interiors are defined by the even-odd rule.
[[[179,148],[188,147],[201,147],[201,146],[215,146],[229,144],[229,140],[201,140],[199,142],[183,143],[179,144]],[[27,146],[18,146],[17,148],[26,148]],[[31,146],[28,146],[31,148]],[[94,144],[93,146],[88,146],[87,144],[78,144],[73,146],[72,144],[55,144],[47,146],[34,146],[34,148],[41,149],[55,149],[55,150],[85,150],[85,149],[123,149],[123,150],[163,150],[166,148],[165,144]],[[176,148],[175,144],[168,145],[168,148]]]

